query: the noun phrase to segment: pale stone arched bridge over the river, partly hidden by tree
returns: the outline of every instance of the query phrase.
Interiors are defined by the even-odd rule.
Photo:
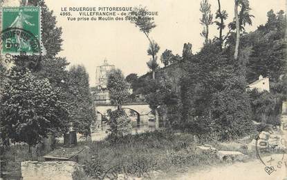
[[[112,104],[97,104],[95,105],[95,111],[101,116],[107,116],[107,110],[116,110],[117,106],[113,106]],[[147,103],[129,103],[122,105],[122,109],[133,110],[137,114],[137,122],[138,125],[147,124],[149,122],[148,115],[151,113],[151,108],[149,108],[149,104]],[[102,117],[101,117],[102,118]]]

